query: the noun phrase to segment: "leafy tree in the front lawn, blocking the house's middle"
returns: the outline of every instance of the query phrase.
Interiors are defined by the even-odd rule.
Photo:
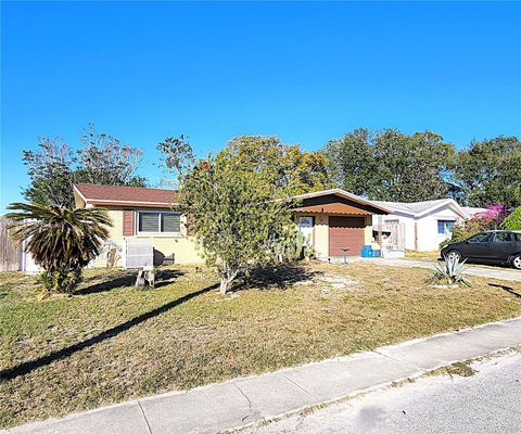
[[[207,265],[217,269],[223,294],[252,268],[280,259],[291,235],[291,212],[288,202],[274,201],[279,189],[263,170],[221,152],[195,164],[181,193],[181,209],[191,216]]]

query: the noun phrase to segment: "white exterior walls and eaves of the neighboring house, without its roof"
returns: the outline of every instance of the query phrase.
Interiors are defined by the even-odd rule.
[[[433,252],[440,250],[440,243],[449,238],[449,235],[437,233],[437,220],[458,221],[461,220],[461,216],[449,206],[444,206],[421,217],[398,213],[372,217],[373,225],[384,224],[389,220],[398,220],[401,224],[405,224],[405,248],[417,250],[418,252]],[[415,243],[415,225],[417,226],[417,245]]]

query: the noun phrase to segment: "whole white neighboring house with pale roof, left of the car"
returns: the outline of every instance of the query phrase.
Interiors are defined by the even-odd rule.
[[[374,216],[373,225],[401,224],[405,231],[405,248],[418,252],[437,251],[440,243],[450,238],[457,221],[467,220],[471,216],[469,213],[481,209],[466,210],[453,199],[411,203],[372,202],[391,210],[389,215]]]

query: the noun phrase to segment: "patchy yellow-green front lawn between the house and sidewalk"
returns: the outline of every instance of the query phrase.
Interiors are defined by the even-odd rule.
[[[223,297],[194,267],[167,269],[155,290],[89,270],[79,294],[45,299],[33,277],[0,275],[0,426],[521,315],[492,279],[433,290],[428,270],[367,263],[282,275]]]

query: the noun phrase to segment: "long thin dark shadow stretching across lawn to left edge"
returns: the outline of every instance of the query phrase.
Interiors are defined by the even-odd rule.
[[[47,365],[52,363],[53,361],[64,359],[66,357],[72,356],[74,353],[77,353],[84,348],[88,348],[89,346],[92,346],[94,344],[99,344],[100,342],[106,341],[107,339],[114,337],[118,335],[122,332],[125,332],[129,330],[130,328],[140,324],[141,322],[147,321],[148,319],[154,318],[161,314],[164,314],[170,309],[173,309],[176,306],[179,306],[182,303],[186,303],[198,295],[202,295],[208,291],[215,290],[218,288],[217,284],[213,284],[211,286],[203,288],[202,290],[192,292],[190,294],[183,295],[180,298],[177,298],[173,302],[166,303],[163,306],[160,306],[153,310],[150,310],[145,314],[139,315],[128,321],[125,321],[120,323],[119,326],[113,327],[112,329],[105,330],[104,332],[101,332],[97,334],[96,336],[89,337],[86,341],[78,342],[77,344],[67,346],[65,348],[59,349],[58,352],[53,352],[48,354],[47,356],[39,357],[35,360],[30,361],[25,361],[23,363],[20,363],[18,366],[15,366],[10,369],[5,369],[3,371],[0,371],[0,381],[4,380],[12,380],[15,379],[16,376],[20,375],[25,375],[26,373],[29,373],[34,371],[35,369],[42,368]]]

